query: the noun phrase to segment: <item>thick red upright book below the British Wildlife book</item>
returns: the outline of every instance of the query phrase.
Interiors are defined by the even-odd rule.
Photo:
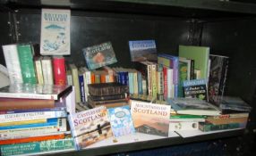
[[[66,84],[65,63],[63,56],[53,57],[55,85]]]

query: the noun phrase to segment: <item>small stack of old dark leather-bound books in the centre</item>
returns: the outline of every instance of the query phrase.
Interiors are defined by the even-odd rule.
[[[107,108],[128,104],[129,87],[120,83],[90,84],[88,104],[90,108],[105,105]]]

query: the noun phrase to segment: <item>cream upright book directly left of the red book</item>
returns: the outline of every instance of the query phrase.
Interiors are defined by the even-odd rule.
[[[53,65],[50,57],[45,56],[42,60],[42,70],[44,76],[44,83],[47,85],[54,85]]]

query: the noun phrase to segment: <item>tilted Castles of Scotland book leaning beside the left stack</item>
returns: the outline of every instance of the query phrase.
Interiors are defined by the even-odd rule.
[[[113,135],[105,106],[70,114],[68,119],[78,150]]]

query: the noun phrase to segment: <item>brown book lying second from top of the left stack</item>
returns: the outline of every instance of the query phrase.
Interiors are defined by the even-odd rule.
[[[50,99],[22,99],[22,98],[0,98],[0,111],[29,110],[54,108],[55,100]]]

